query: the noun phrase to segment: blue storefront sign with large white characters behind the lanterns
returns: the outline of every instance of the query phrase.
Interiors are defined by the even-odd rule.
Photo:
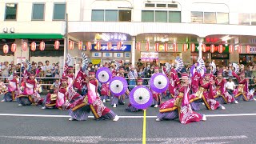
[[[131,45],[122,45],[121,49],[118,50],[117,45],[112,45],[111,50],[108,49],[107,45],[102,45],[102,49],[100,51],[130,51]],[[96,45],[92,45],[91,51],[98,51]]]

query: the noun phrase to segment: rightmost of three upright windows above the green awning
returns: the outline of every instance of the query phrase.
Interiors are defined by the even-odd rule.
[[[66,17],[66,4],[54,4],[54,20],[64,20]]]

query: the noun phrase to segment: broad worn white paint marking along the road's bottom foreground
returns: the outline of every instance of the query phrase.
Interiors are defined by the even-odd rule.
[[[98,143],[98,142],[141,142],[142,138],[102,138],[102,136],[0,136],[0,138],[15,138],[26,140],[38,140],[48,142],[76,142],[76,143]],[[235,141],[246,139],[245,135],[219,136],[219,137],[195,137],[195,138],[146,138],[147,142],[158,143],[226,143],[219,141]]]

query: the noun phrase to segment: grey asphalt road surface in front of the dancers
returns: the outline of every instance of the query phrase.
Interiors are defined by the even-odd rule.
[[[110,102],[106,103],[110,106]],[[182,125],[178,120],[155,122],[146,118],[147,143],[256,143],[256,102],[229,104],[226,110],[206,110],[206,122]],[[124,106],[111,108],[119,116],[142,116],[130,113]],[[6,116],[5,114],[45,114],[56,117]],[[158,108],[150,107],[147,116],[156,116]],[[220,114],[253,114],[222,116]],[[16,102],[0,103],[0,143],[142,143],[142,118],[68,121],[65,110],[41,110],[41,106],[18,106]]]

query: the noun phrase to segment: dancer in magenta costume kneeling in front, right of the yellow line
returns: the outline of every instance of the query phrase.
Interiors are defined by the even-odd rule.
[[[188,74],[182,74],[182,82],[178,84],[178,96],[160,105],[156,121],[174,120],[179,118],[182,124],[206,121],[206,116],[194,112],[189,102],[190,83]]]

